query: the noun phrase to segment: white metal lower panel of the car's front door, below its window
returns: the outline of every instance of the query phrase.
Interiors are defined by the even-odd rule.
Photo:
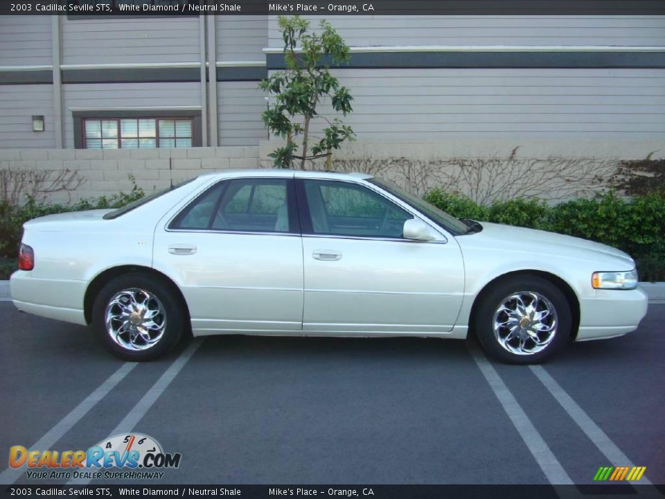
[[[313,256],[322,252],[341,256]],[[303,236],[303,254],[304,331],[444,333],[456,322],[464,273],[454,241]]]

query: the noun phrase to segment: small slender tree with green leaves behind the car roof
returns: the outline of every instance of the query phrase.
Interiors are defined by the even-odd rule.
[[[310,33],[310,23],[300,16],[280,16],[279,27],[284,40],[285,71],[278,71],[259,87],[274,96],[272,107],[263,112],[263,123],[276,137],[286,139],[285,146],[277,148],[269,157],[276,168],[293,168],[294,159],[305,169],[305,161],[326,156],[326,168],[332,168],[332,150],[339,149],[347,139],[353,139],[351,127],[335,118],[329,120],[317,114],[321,99],[330,98],[332,109],[346,116],[351,112],[353,97],[341,87],[329,71],[328,63],[342,64],[349,60],[348,46],[325,20],[321,33]],[[328,123],[323,135],[310,148],[310,123],[313,119]],[[301,152],[296,155],[301,139]]]

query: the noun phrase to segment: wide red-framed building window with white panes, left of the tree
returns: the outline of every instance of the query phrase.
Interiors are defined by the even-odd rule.
[[[85,149],[183,148],[193,145],[191,118],[85,118]]]

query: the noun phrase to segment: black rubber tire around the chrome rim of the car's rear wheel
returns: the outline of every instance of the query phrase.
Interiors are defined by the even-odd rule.
[[[124,342],[127,345],[126,347],[116,342],[112,338],[111,333],[107,331],[107,306],[109,306],[109,302],[118,293],[123,291],[127,291],[127,293],[120,296],[119,301],[122,301],[122,303],[118,304],[116,301],[116,305],[114,305],[111,311],[119,310],[118,307],[131,307],[131,299],[127,299],[130,296],[139,297],[136,301],[137,304],[142,305],[139,301],[143,299],[143,304],[148,304],[146,305],[148,308],[159,311],[155,320],[157,323],[163,324],[163,328],[157,329],[157,331],[145,328],[141,330],[144,333],[150,331],[148,332],[148,336],[154,335],[154,338],[159,336],[154,344],[150,345],[143,338],[136,338],[136,335],[134,335],[134,338],[136,338],[135,343],[139,347],[145,347],[145,349],[132,349],[132,341],[129,340],[131,333],[126,331],[126,328],[123,328],[123,331],[126,332],[118,336],[118,341]],[[136,321],[141,320],[140,317],[135,317],[135,319]],[[172,290],[172,284],[165,279],[154,277],[144,272],[129,272],[109,281],[98,293],[92,308],[92,327],[105,349],[118,358],[132,362],[157,359],[175,347],[183,332],[187,330],[186,319],[187,315],[184,306],[179,296]],[[119,321],[119,319],[114,320]],[[113,322],[112,324],[119,323]],[[136,330],[134,329],[134,331]],[[160,332],[161,335],[159,335]]]

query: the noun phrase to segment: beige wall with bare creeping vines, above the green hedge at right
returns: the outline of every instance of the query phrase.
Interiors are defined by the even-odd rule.
[[[283,141],[260,141],[260,163]],[[516,149],[517,148],[517,149]],[[515,161],[509,161],[515,150]],[[459,192],[483,204],[516,197],[556,203],[592,197],[607,187],[619,161],[665,155],[665,141],[631,139],[612,142],[529,137],[443,137],[439,141],[368,141],[345,143],[333,151],[333,169],[369,173],[416,195],[435,187]],[[325,160],[307,168],[323,169]],[[463,163],[464,166],[460,166]]]

